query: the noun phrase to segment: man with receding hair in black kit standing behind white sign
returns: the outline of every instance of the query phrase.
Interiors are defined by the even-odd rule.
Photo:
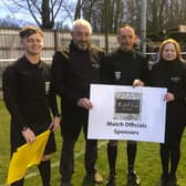
[[[118,49],[110,53],[101,68],[102,82],[115,85],[143,86],[148,81],[149,70],[146,59],[134,50],[135,31],[131,25],[118,29]],[[140,185],[141,179],[134,170],[137,143],[127,141],[127,184]],[[115,186],[115,165],[117,156],[117,141],[110,141],[107,158],[110,176],[107,186]]]

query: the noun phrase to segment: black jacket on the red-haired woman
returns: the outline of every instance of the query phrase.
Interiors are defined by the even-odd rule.
[[[175,100],[167,103],[167,120],[172,122],[186,122],[186,64],[178,60],[159,61],[151,71],[152,86],[167,87]]]

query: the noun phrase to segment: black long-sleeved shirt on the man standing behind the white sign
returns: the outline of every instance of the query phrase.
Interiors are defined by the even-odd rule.
[[[106,56],[101,68],[103,83],[132,85],[135,79],[148,84],[149,70],[146,59],[136,51],[124,52],[120,49]]]

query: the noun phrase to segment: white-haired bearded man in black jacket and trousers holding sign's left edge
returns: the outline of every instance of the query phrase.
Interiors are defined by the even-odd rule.
[[[61,134],[63,137],[61,153],[61,185],[70,186],[74,172],[73,151],[75,142],[83,127],[85,138],[86,177],[94,183],[103,178],[95,169],[97,158],[97,141],[87,140],[89,110],[93,107],[90,101],[90,84],[100,81],[100,63],[104,52],[91,44],[92,28],[83,19],[78,19],[72,27],[72,42],[53,56],[53,86],[61,97]]]

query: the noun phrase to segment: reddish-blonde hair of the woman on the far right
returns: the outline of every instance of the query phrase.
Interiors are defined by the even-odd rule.
[[[164,50],[165,45],[168,44],[168,43],[174,44],[175,50],[176,50],[176,59],[177,59],[177,60],[182,60],[180,45],[179,45],[179,43],[178,43],[176,40],[174,40],[174,39],[166,39],[166,40],[164,40],[164,41],[162,42],[162,44],[161,44],[161,46],[159,46],[159,60],[163,60],[163,50]]]

